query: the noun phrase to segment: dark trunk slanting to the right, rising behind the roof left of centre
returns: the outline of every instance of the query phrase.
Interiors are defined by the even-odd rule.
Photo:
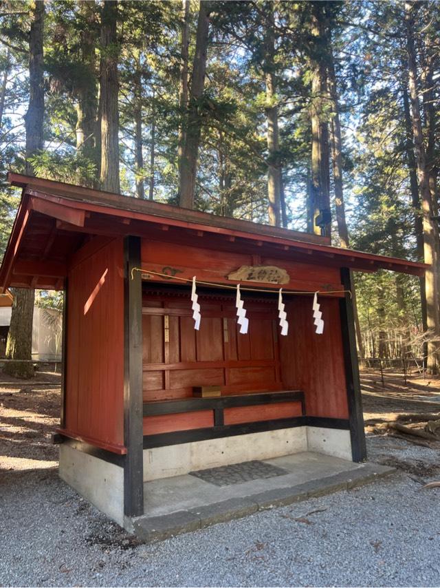
[[[206,74],[210,10],[210,2],[202,0],[197,21],[197,38],[192,63],[191,94],[187,115],[188,125],[186,126],[186,140],[180,170],[179,204],[185,208],[194,208],[197,158],[201,136],[201,111],[203,110],[201,99],[203,98]]]

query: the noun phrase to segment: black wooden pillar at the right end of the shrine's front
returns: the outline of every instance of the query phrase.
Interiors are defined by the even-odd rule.
[[[344,290],[351,292],[351,275],[348,268],[344,267],[341,269],[341,281]],[[362,397],[360,392],[358,353],[356,350],[353,301],[348,292],[345,294],[344,298],[340,298],[340,316],[342,347],[344,350],[345,379],[347,380],[347,398],[349,401],[351,455],[353,461],[365,461],[366,444],[364,415],[362,414]]]

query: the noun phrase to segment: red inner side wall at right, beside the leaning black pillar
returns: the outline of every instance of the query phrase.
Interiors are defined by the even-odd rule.
[[[289,335],[280,337],[281,379],[305,392],[307,415],[348,419],[339,301],[318,297],[318,302],[325,322],[322,335],[315,333],[311,296],[296,296],[286,304]]]

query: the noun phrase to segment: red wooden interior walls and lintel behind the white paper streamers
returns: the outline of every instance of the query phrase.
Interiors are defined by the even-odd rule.
[[[195,237],[197,240],[197,238]],[[340,270],[283,255],[280,259],[261,254],[203,249],[194,245],[142,241],[142,267],[148,272],[173,273],[199,280],[230,284],[227,275],[241,265],[272,264],[287,270],[286,289],[341,289]],[[305,256],[307,258],[307,255]],[[307,260],[308,261],[308,260]],[[160,281],[161,284],[154,284]],[[314,333],[312,297],[285,297],[290,324],[289,336],[281,337],[277,299],[245,304],[250,333],[240,335],[236,328],[234,302],[204,298],[201,330],[193,328],[190,285],[186,295],[161,295],[169,284],[154,278],[144,284],[144,401],[184,399],[192,396],[192,386],[217,384],[222,395],[259,391],[303,390],[307,414],[316,417],[348,418],[347,389],[342,353],[339,302],[320,297],[325,319],[324,335]],[[264,287],[263,284],[260,284]],[[273,288],[273,284],[267,284]],[[225,295],[225,292],[219,291]],[[164,318],[168,317],[169,342],[164,342]],[[225,341],[225,324],[228,340]],[[225,412],[225,424],[280,419],[301,414],[299,403],[233,408]],[[144,418],[144,434],[213,426],[212,411],[166,414]]]

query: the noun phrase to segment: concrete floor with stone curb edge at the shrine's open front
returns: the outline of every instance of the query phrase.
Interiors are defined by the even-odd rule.
[[[368,484],[395,471],[313,452],[264,462],[283,468],[286,474],[223,487],[190,474],[144,483],[146,514],[132,519],[133,532],[153,543],[258,510]]]

